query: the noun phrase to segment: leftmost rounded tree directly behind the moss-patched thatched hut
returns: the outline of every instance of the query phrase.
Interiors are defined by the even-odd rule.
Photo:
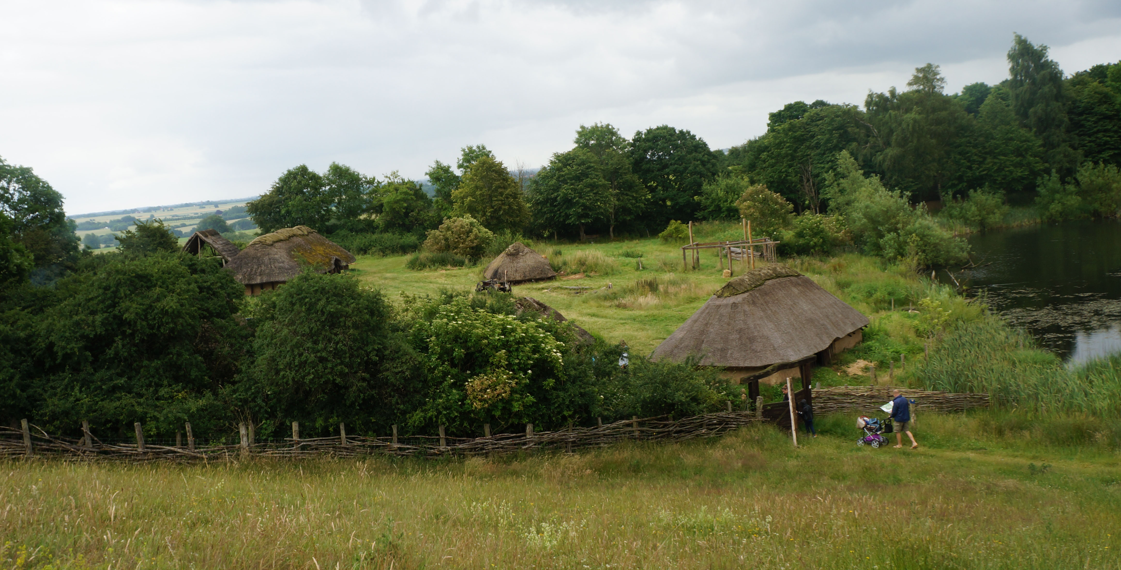
[[[294,226],[326,231],[331,204],[325,186],[323,176],[302,164],[280,175],[267,194],[247,203],[245,211],[261,233]]]

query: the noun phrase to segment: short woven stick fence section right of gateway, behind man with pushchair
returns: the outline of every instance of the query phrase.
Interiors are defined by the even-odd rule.
[[[814,394],[814,414],[835,414],[855,412],[860,414],[882,414],[880,406],[891,401],[891,390],[898,389],[902,395],[914,399],[912,408],[917,412],[953,413],[978,407],[989,407],[989,395],[957,394],[952,392],[925,392],[910,388],[893,388],[891,386],[836,386],[817,388]]]

